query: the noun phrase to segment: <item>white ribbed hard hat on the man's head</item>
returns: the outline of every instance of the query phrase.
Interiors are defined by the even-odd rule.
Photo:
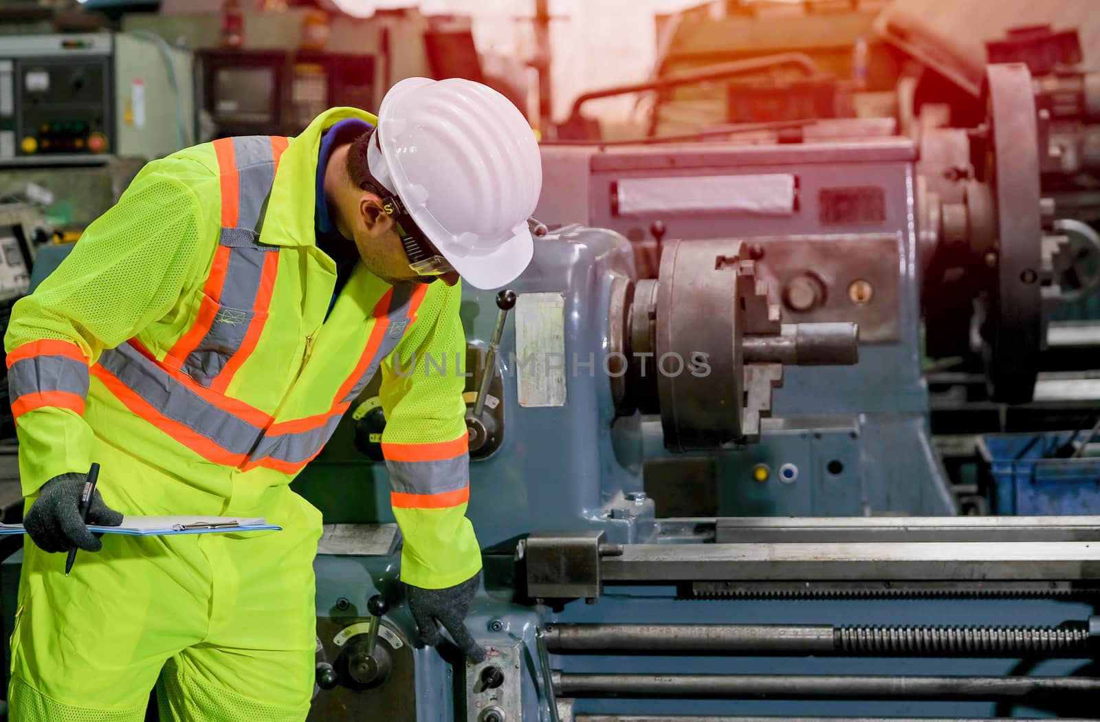
[[[371,175],[466,282],[498,288],[524,272],[542,160],[516,106],[472,80],[406,78],[382,99],[375,139]]]

